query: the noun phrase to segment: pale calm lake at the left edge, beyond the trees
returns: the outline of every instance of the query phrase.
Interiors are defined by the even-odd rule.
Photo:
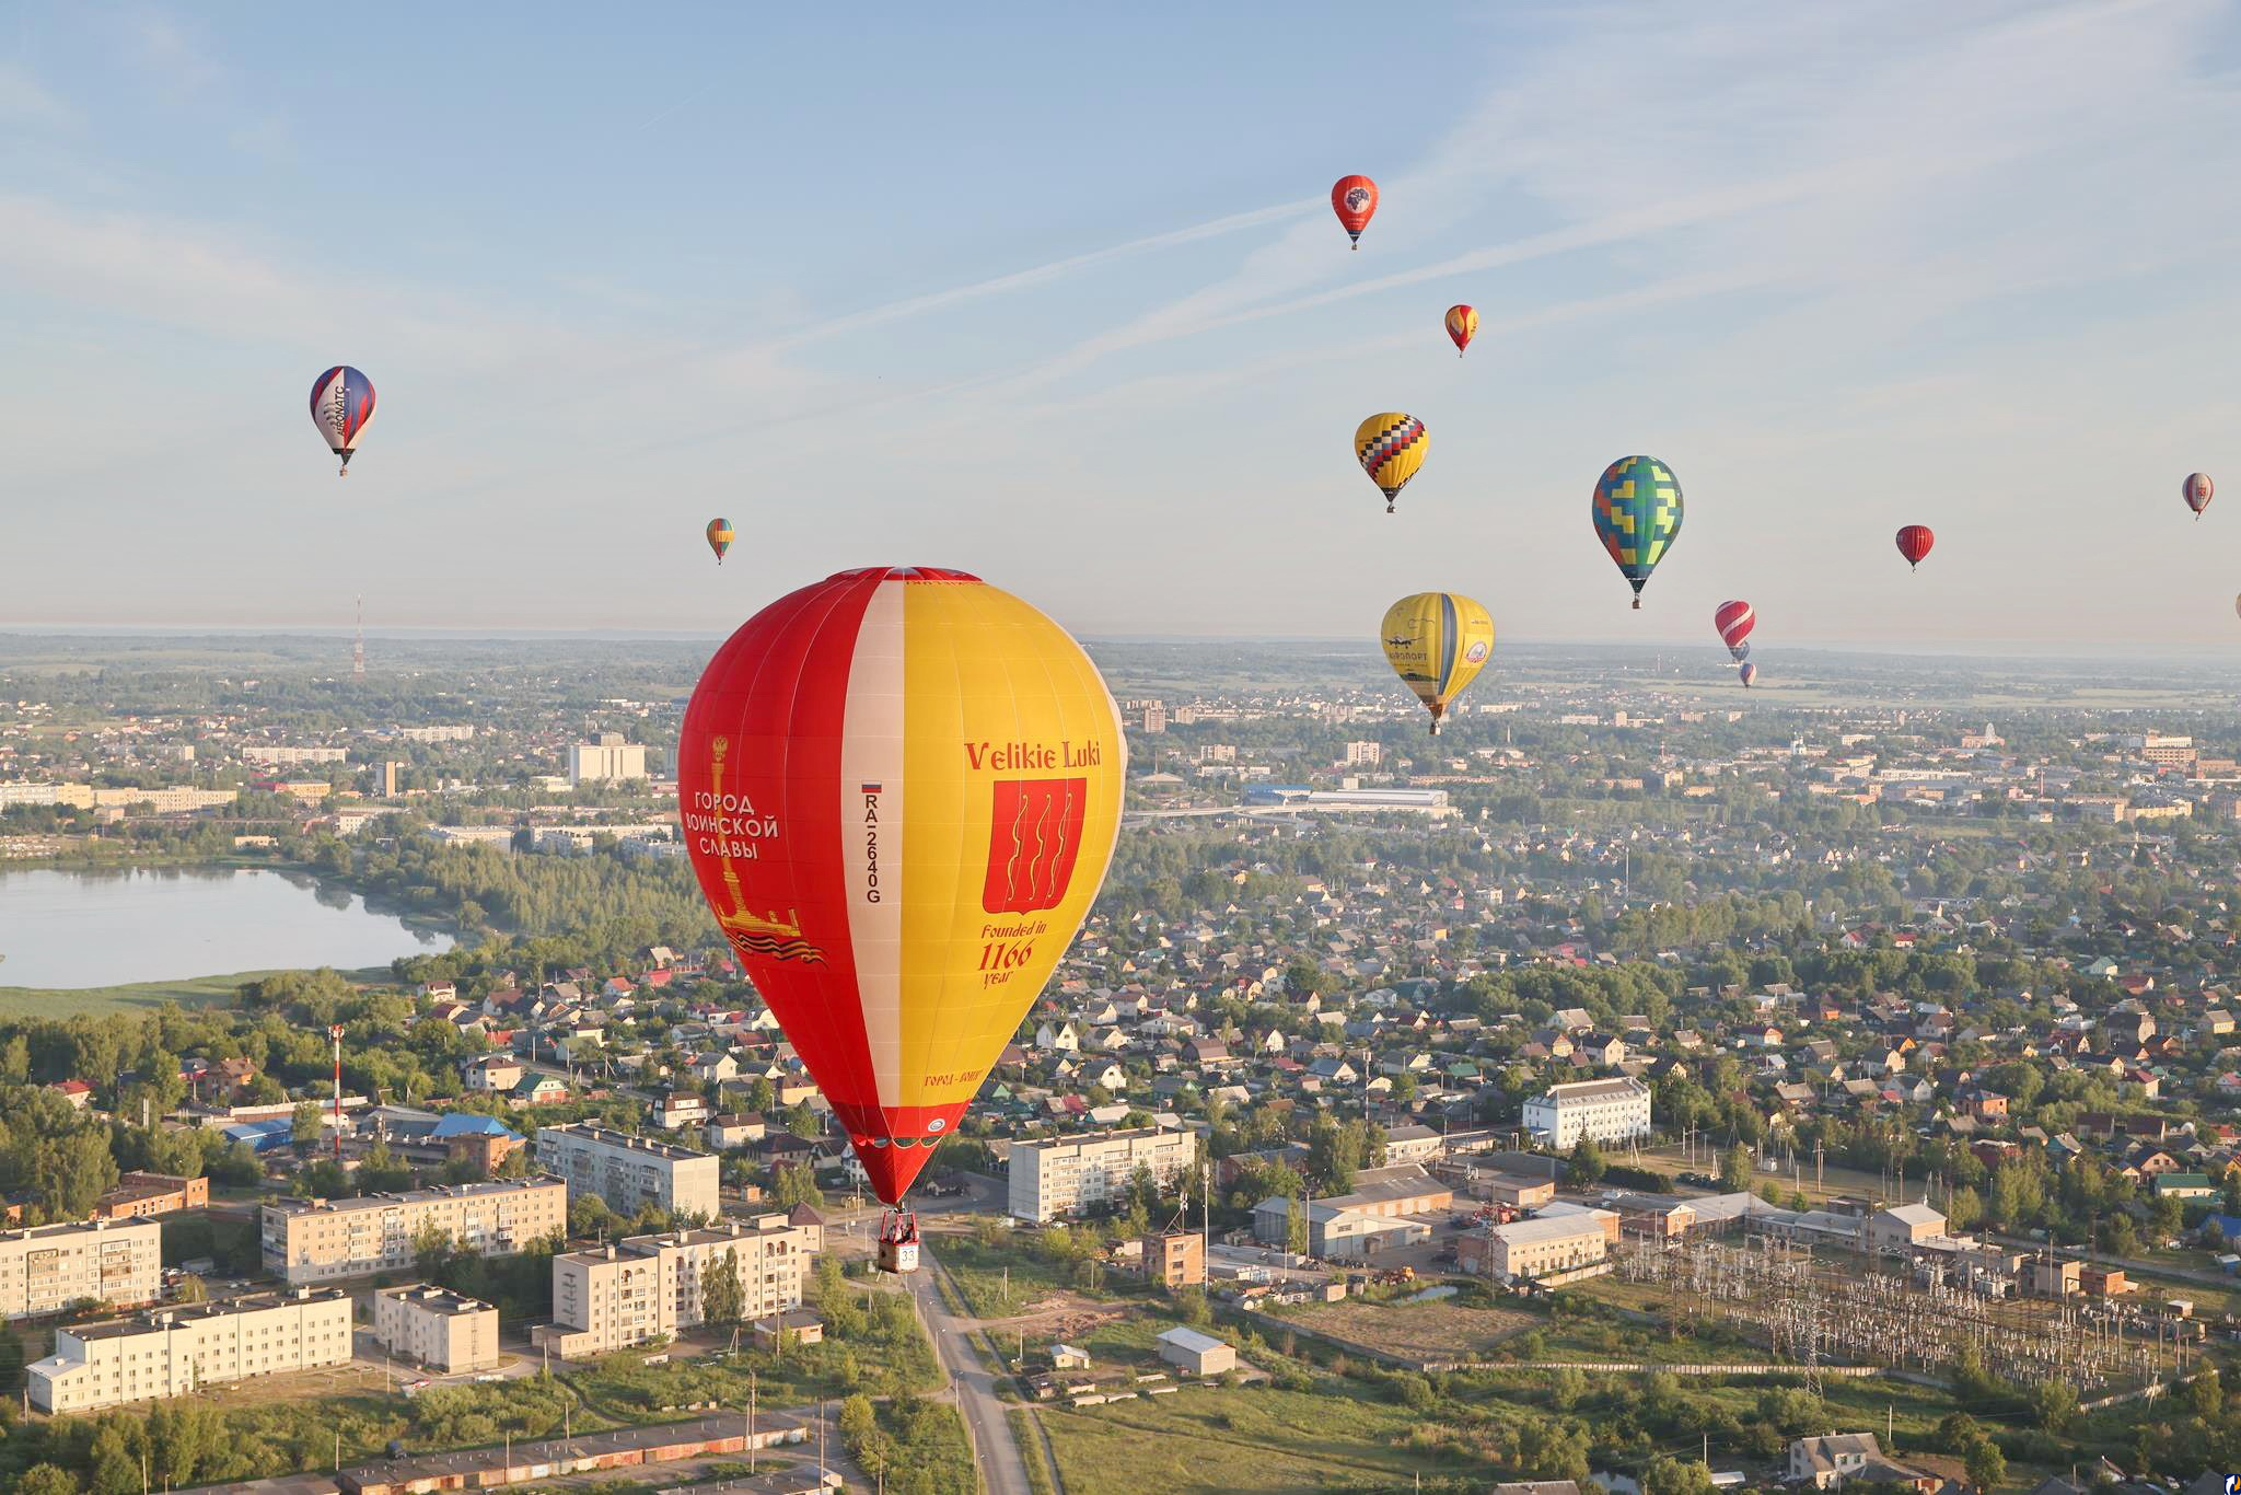
[[[0,986],[354,971],[450,944],[287,872],[0,872]]]

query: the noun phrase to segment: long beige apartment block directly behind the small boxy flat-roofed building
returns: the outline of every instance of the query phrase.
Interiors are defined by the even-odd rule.
[[[403,1271],[421,1231],[441,1231],[475,1255],[513,1255],[567,1235],[567,1183],[498,1179],[365,1199],[276,1199],[264,1206],[264,1271],[289,1287]]]

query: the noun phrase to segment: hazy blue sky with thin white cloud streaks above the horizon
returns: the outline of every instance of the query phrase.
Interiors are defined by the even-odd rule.
[[[2237,639],[2232,4],[1105,11],[0,9],[0,623],[726,630],[930,563],[1089,634]],[[1690,507],[1629,614],[1638,451]]]

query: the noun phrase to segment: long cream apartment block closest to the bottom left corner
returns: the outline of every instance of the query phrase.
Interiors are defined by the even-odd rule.
[[[40,1412],[92,1412],[186,1396],[206,1385],[350,1363],[350,1293],[264,1293],[157,1309],[54,1331],[54,1354],[27,1367]]]

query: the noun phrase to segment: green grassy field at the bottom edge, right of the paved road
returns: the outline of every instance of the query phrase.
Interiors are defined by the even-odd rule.
[[[1136,1491],[1407,1488],[1414,1475],[1484,1475],[1405,1443],[1407,1408],[1345,1381],[1315,1392],[1183,1387],[1103,1408],[1040,1408],[1067,1495]]]

